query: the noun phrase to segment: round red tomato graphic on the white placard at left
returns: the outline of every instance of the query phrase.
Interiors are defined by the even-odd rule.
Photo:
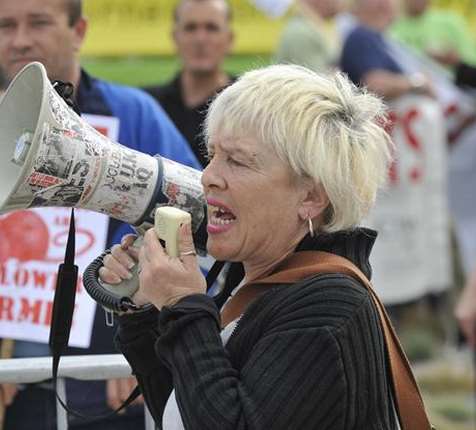
[[[48,227],[36,213],[17,211],[0,220],[0,262],[45,260],[50,242]]]

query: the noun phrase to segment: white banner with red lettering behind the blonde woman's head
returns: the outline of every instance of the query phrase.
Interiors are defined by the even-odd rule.
[[[391,109],[396,161],[368,219],[379,232],[372,280],[385,304],[441,291],[451,280],[443,114],[437,102],[418,96]]]

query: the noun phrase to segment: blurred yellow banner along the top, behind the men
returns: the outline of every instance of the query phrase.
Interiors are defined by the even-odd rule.
[[[169,55],[174,52],[170,32],[177,0],[84,0],[89,31],[86,56]],[[230,0],[235,30],[235,54],[274,51],[284,18],[272,19],[252,0]],[[433,0],[476,23],[476,0]],[[474,27],[473,27],[474,28]]]

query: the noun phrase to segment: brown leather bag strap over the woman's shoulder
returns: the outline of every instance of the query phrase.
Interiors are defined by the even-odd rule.
[[[395,409],[401,428],[402,430],[433,429],[428,420],[410,364],[383,304],[380,302],[366,276],[346,258],[321,251],[301,251],[292,254],[273,274],[257,279],[252,284],[244,285],[238,290],[222,310],[222,327],[238,318],[253,300],[265,293],[267,284],[287,284],[324,273],[342,273],[351,276],[367,288],[377,308],[382,324],[396,399]]]

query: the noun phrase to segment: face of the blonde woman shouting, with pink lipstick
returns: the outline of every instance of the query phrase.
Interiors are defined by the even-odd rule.
[[[215,136],[209,153],[202,183],[210,254],[266,265],[292,251],[307,228],[301,203],[308,187],[303,181],[271,146],[253,138]]]

